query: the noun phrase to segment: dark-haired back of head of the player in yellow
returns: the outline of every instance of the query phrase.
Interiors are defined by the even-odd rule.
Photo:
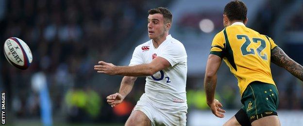
[[[224,15],[226,15],[230,21],[242,20],[244,22],[247,16],[247,7],[240,0],[230,1],[224,8]]]

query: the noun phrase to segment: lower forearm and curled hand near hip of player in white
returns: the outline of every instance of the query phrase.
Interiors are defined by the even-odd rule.
[[[132,91],[136,79],[137,77],[124,76],[121,81],[119,93],[107,96],[107,103],[111,105],[111,107],[115,107],[121,103],[126,95]]]

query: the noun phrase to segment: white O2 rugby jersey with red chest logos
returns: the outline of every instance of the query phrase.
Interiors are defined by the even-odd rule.
[[[166,40],[155,48],[152,40],[135,48],[130,65],[151,63],[155,57],[166,59],[171,66],[146,77],[145,95],[167,109],[187,109],[186,74],[187,54],[181,42],[168,35]]]

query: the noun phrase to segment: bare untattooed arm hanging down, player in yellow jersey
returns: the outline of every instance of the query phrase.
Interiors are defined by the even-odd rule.
[[[221,64],[221,58],[217,55],[210,54],[207,59],[205,77],[204,77],[204,89],[206,94],[207,105],[211,108],[212,112],[217,117],[224,117],[225,110],[220,109],[222,104],[215,99],[215,90],[217,85],[217,72]]]

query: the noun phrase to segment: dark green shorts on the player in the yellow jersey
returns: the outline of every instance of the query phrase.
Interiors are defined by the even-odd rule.
[[[241,102],[244,105],[250,120],[262,118],[264,114],[276,113],[279,104],[278,91],[275,85],[259,81],[249,84],[242,94]],[[260,116],[260,117],[258,117]]]

